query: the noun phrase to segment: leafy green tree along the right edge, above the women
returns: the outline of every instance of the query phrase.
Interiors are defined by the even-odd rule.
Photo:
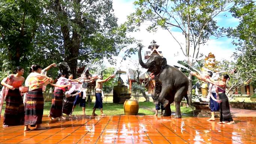
[[[233,87],[239,88],[256,82],[256,5],[252,0],[236,2],[230,11],[240,23],[236,28],[228,28],[227,32],[229,37],[235,39],[233,44],[237,46],[233,55],[237,80]]]

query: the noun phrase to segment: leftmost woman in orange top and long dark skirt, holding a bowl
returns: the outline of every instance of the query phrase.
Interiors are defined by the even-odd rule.
[[[15,69],[15,74],[11,74],[1,81],[1,85],[4,86],[1,94],[1,108],[3,100],[6,100],[3,127],[24,124],[24,104],[19,92],[19,86],[22,86],[24,82],[23,74],[24,69],[18,66]]]

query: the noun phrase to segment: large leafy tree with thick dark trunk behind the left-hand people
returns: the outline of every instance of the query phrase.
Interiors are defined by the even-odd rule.
[[[40,44],[68,62],[74,77],[78,59],[88,63],[111,58],[134,41],[126,37],[125,25],[118,26],[112,0],[50,0],[46,12]],[[47,40],[49,35],[55,39]]]

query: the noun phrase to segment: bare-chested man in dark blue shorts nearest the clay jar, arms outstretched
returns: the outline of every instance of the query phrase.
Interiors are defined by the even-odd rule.
[[[101,116],[105,116],[105,114],[103,113],[103,104],[102,104],[102,86],[103,86],[103,83],[104,82],[107,82],[109,81],[111,78],[114,78],[115,75],[112,74],[111,76],[109,76],[107,79],[104,79],[103,80],[103,77],[101,75],[96,75],[96,76],[93,76],[93,77],[96,77],[97,80],[96,80],[96,86],[95,86],[95,98],[96,98],[96,101],[95,101],[95,105],[93,107],[93,111],[92,111],[92,116],[97,116],[97,114],[95,114],[95,110],[96,108],[100,108],[100,112],[101,112]]]

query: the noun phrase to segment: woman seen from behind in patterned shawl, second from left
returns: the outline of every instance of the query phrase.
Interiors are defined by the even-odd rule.
[[[25,103],[25,128],[24,131],[29,131],[28,125],[36,125],[36,129],[45,129],[41,126],[43,118],[43,86],[53,83],[50,77],[41,74],[42,68],[40,65],[33,65],[33,73],[30,73],[27,82],[29,86],[28,94]]]

